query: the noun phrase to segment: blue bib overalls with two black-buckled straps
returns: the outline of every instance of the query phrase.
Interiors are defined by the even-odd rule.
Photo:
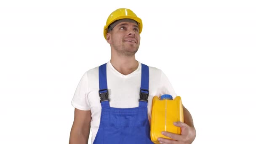
[[[99,67],[101,121],[93,144],[153,144],[147,115],[149,67],[141,64],[139,107],[134,108],[109,106],[106,70],[107,64]]]

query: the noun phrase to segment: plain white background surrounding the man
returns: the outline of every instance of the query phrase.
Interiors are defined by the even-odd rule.
[[[168,76],[193,144],[253,144],[253,0],[143,1],[1,0],[0,144],[68,143],[70,102],[84,72],[109,61],[103,27],[117,8],[142,19],[136,59]]]

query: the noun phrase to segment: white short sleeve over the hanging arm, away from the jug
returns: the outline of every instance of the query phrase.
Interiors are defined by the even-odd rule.
[[[90,104],[88,102],[88,77],[87,72],[83,75],[80,82],[77,85],[75,94],[71,101],[71,105],[80,110],[90,110]]]

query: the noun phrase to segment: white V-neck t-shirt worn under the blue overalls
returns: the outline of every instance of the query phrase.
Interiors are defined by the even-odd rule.
[[[139,107],[141,63],[139,62],[139,67],[134,72],[129,75],[123,75],[112,66],[110,61],[108,61],[107,87],[110,107]],[[160,69],[149,67],[149,122],[151,120],[152,99],[154,96],[161,96],[163,94],[171,94],[173,99],[176,97],[176,93],[166,75]],[[77,86],[71,104],[73,107],[80,110],[91,110],[91,143],[93,144],[96,133],[99,129],[101,116],[101,103],[99,98],[99,67],[95,67],[85,72]]]

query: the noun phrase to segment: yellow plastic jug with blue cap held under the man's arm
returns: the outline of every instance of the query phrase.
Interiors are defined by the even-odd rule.
[[[159,141],[157,141],[159,137],[171,139],[164,136],[161,133],[162,131],[181,134],[181,128],[173,125],[173,122],[177,121],[184,122],[181,97],[176,96],[175,99],[173,99],[172,96],[168,94],[162,95],[160,98],[154,96],[150,125],[151,141],[155,144],[160,144]]]

